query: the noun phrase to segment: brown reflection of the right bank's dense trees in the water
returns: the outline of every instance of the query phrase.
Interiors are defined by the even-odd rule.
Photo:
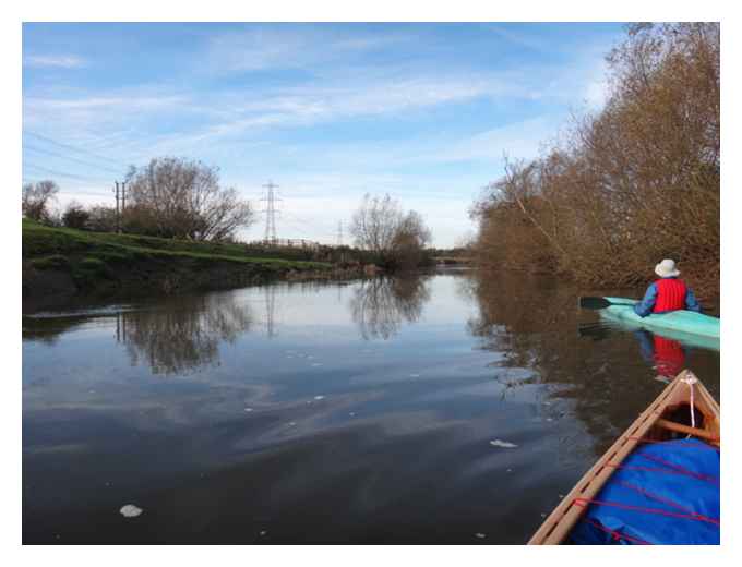
[[[468,322],[480,348],[500,354],[495,379],[547,386],[550,396],[569,400],[596,439],[601,454],[659,394],[663,384],[639,352],[633,334],[606,329],[597,339],[581,336],[579,290],[551,277],[474,273],[468,279],[478,314]],[[595,325],[595,324],[594,324]],[[718,385],[718,354],[698,350],[689,361],[713,391]],[[519,372],[518,369],[530,372]],[[500,379],[501,381],[501,379]]]

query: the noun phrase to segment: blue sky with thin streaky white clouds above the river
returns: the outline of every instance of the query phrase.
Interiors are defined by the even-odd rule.
[[[24,24],[23,176],[60,205],[113,203],[127,166],[217,166],[282,238],[345,241],[366,192],[420,212],[434,244],[502,172],[595,111],[621,24]],[[264,218],[241,237],[263,234]]]

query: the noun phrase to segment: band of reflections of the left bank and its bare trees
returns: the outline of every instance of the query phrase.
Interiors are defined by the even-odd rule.
[[[154,304],[46,313],[24,317],[23,338],[55,345],[60,336],[75,328],[115,325],[116,342],[125,348],[132,365],[147,364],[153,374],[166,376],[185,374],[218,365],[220,343],[234,343],[250,331],[277,339],[283,326],[292,328],[304,317],[316,322],[322,315],[339,315],[352,321],[366,340],[390,339],[403,324],[419,319],[431,297],[430,278],[412,274],[364,279],[350,286],[337,284],[336,297],[323,297],[322,304],[316,305],[311,301],[294,305],[294,300],[319,298],[327,284],[272,285],[167,298]],[[344,287],[351,288],[351,297],[345,301]]]

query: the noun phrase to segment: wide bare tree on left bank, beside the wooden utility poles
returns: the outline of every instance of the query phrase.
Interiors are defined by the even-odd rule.
[[[219,185],[218,170],[172,157],[129,173],[129,221],[159,237],[222,240],[255,221],[247,201]]]

